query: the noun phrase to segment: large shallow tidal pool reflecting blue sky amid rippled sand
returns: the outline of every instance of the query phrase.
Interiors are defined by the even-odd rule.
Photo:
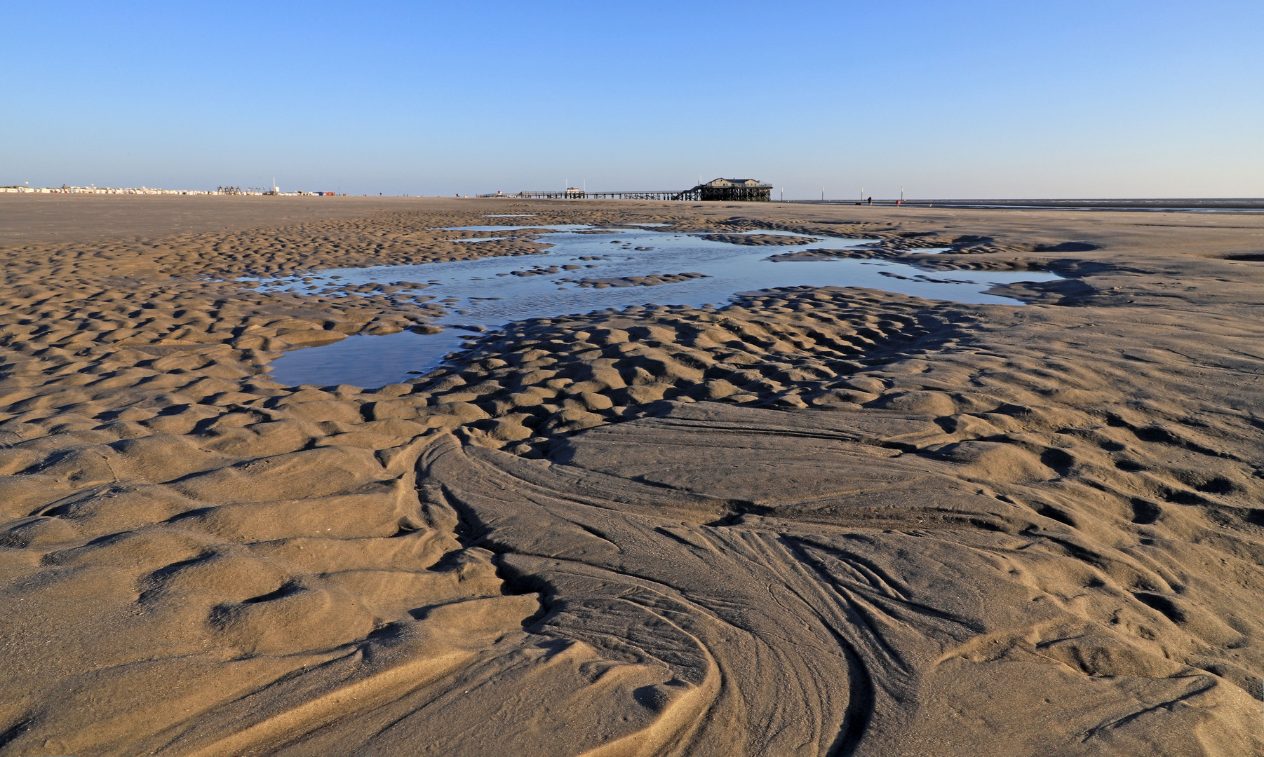
[[[477,339],[482,332],[533,317],[618,310],[633,305],[722,306],[736,293],[794,286],[870,287],[928,300],[1023,305],[1019,300],[990,294],[987,289],[996,284],[1059,278],[1030,270],[929,272],[889,260],[769,259],[814,248],[854,248],[875,241],[870,239],[811,235],[814,241],[806,244],[755,246],[707,240],[700,234],[597,229],[576,224],[447,230],[512,229],[549,229],[541,241],[554,246],[536,255],[341,268],[260,281],[259,288],[268,291],[426,281],[431,286],[417,293],[432,297],[447,310],[435,321],[445,327],[441,334],[406,331],[389,336],[350,336],[331,345],[295,350],[273,361],[270,378],[291,385],[346,383],[380,387],[432,370],[464,341]],[[744,234],[791,235],[785,231]],[[657,286],[627,286],[631,277],[681,273],[703,276]]]

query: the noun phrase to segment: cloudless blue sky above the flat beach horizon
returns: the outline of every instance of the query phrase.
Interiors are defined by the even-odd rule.
[[[1260,0],[6,0],[0,43],[0,185],[1264,196]]]

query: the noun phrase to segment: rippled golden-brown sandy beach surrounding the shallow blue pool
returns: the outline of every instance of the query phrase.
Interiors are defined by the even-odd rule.
[[[1063,279],[269,380],[436,311],[234,279],[514,214]],[[1259,214],[3,195],[0,260],[3,756],[1264,754]]]

